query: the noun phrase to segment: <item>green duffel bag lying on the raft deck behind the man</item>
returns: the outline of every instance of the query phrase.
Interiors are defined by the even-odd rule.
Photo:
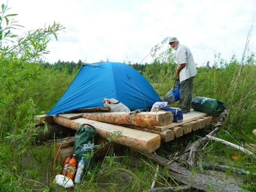
[[[223,102],[207,97],[194,97],[191,105],[195,111],[201,111],[213,116],[218,116],[226,108]]]

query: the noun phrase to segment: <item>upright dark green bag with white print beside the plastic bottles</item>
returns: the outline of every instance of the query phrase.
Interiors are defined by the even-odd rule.
[[[88,125],[89,127],[84,128],[84,125]],[[93,125],[82,124],[79,126],[75,134],[74,142],[74,154],[76,154],[77,162],[79,162],[81,158],[84,157],[84,155],[86,155],[87,153],[91,154],[92,151],[95,151],[97,145],[95,145],[94,143],[96,143],[97,137],[98,135]],[[87,169],[89,163],[93,160],[93,155],[90,156],[90,158],[84,158],[85,170]]]

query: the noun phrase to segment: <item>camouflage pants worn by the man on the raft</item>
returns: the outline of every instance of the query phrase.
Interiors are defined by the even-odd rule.
[[[192,94],[193,94],[193,81],[195,76],[190,77],[181,82],[180,86],[180,109],[190,110]]]

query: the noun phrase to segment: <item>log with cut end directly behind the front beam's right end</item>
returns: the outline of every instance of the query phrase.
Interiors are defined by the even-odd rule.
[[[140,130],[140,131],[145,131],[145,132],[148,132],[148,133],[158,134],[158,135],[160,135],[162,142],[168,142],[168,141],[174,140],[174,132],[171,129],[166,129],[164,131],[156,131],[154,129],[137,127],[135,125],[122,125],[122,126],[127,127],[127,128],[131,128],[131,129]]]

